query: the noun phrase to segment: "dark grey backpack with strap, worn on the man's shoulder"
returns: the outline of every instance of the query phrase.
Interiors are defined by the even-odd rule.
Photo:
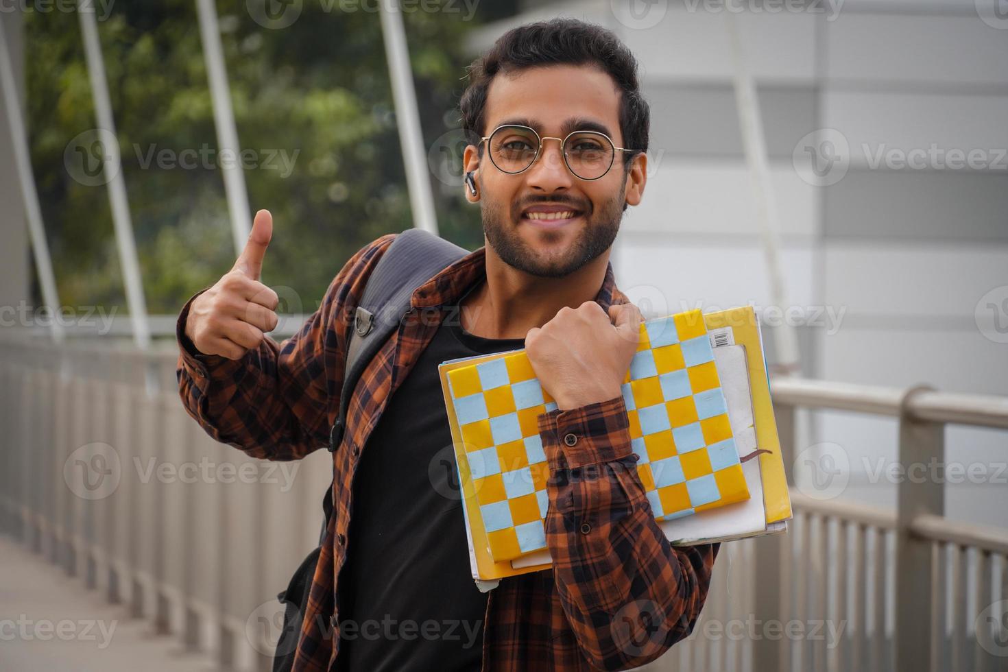
[[[335,452],[343,440],[347,410],[357,382],[410,308],[409,299],[413,291],[468,254],[470,253],[466,249],[422,229],[407,229],[392,240],[378,260],[368,277],[354,314],[354,330],[347,348],[343,390],[340,395],[340,413],[330,430],[330,452]],[[329,519],[333,515],[335,471],[333,479],[334,483],[330,485],[323,500],[325,519],[319,535],[319,547],[308,553],[294,571],[286,589],[276,595],[277,600],[284,606],[284,613],[283,627],[273,658],[273,672],[288,672],[293,666],[300,636],[302,609],[308,601],[311,578],[319,563]]]

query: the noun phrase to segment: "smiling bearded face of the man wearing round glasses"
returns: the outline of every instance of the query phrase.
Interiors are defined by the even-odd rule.
[[[498,75],[487,93],[483,131],[490,135],[502,124],[520,124],[540,137],[563,138],[574,130],[595,130],[622,147],[619,102],[613,79],[595,66],[550,65]],[[596,259],[616,239],[624,204],[640,201],[643,155],[628,170],[624,152],[617,150],[609,172],[590,181],[571,172],[557,140],[544,140],[532,166],[516,174],[494,166],[488,144],[483,143],[482,157],[472,145],[465,154],[466,169],[476,171],[483,231],[506,264],[530,275],[563,277]],[[474,199],[468,190],[467,197]],[[573,216],[542,214],[550,211]]]

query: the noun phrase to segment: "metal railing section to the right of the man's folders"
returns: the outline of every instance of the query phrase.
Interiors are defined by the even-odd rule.
[[[806,408],[895,416],[898,463],[936,464],[939,472],[899,480],[895,511],[818,501],[792,489],[791,533],[758,542],[760,571],[779,567],[777,581],[758,583],[759,598],[803,623],[843,623],[846,635],[833,647],[809,638],[760,641],[756,669],[1005,669],[1008,641],[999,643],[1008,635],[1008,530],[946,519],[942,477],[946,425],[1008,428],[1008,397],[786,378],[773,381],[772,394],[789,466],[795,410]]]

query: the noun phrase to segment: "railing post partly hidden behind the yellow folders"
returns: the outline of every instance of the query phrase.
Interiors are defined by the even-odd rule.
[[[777,433],[780,440],[780,453],[784,460],[784,473],[788,486],[794,485],[794,475],[791,466],[794,460],[794,416],[793,406],[774,404],[773,413],[777,422]],[[762,447],[762,446],[760,446]],[[791,593],[790,559],[791,539],[786,534],[772,534],[757,537],[753,550],[753,563],[756,576],[754,582],[753,611],[763,623],[775,621],[784,623],[790,618]],[[750,579],[751,580],[751,579]],[[753,642],[753,669],[775,672],[790,669],[791,649],[786,637],[758,638]]]

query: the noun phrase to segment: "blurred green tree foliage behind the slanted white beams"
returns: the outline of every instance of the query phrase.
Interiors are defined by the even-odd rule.
[[[362,9],[375,3],[305,0],[290,26],[270,29],[247,6],[217,3],[239,142],[254,152],[245,170],[250,206],[274,218],[262,279],[290,288],[281,296],[301,305],[288,310],[311,312],[354,252],[412,226],[380,17]],[[358,10],[341,11],[347,6]],[[447,11],[403,14],[425,148],[458,125],[470,59],[462,45],[476,22],[450,11],[465,7],[457,0],[438,6]],[[196,3],[129,0],[99,17],[147,309],[175,313],[235,258]],[[64,160],[96,127],[79,17],[27,12],[24,62],[60,302],[126,313],[108,189],[75,180]],[[158,162],[163,150],[175,160]],[[181,167],[183,150],[211,160]],[[433,177],[431,187],[442,236],[482,245],[479,213],[462,187]]]

